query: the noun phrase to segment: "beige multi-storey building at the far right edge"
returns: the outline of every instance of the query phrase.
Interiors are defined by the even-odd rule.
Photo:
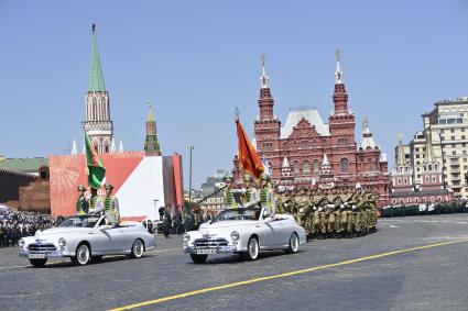
[[[424,113],[423,130],[414,134],[405,146],[413,166],[415,185],[421,185],[422,164],[425,157],[426,130],[432,131],[432,144],[436,160],[443,164],[443,182],[454,197],[467,198],[468,185],[468,97],[443,100],[435,109]]]

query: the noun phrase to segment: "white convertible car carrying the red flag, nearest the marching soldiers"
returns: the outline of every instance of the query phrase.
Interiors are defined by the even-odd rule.
[[[296,253],[305,242],[305,230],[292,215],[276,214],[273,219],[259,208],[225,210],[183,236],[184,251],[195,264],[219,253],[240,254],[249,260],[255,260],[260,251]]]

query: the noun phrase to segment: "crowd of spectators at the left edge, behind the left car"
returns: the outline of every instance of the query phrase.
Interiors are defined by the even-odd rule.
[[[17,246],[23,236],[59,224],[64,218],[3,208],[0,210],[0,247]]]

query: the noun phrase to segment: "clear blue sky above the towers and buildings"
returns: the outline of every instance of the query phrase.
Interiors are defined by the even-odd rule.
[[[64,154],[81,141],[91,33],[111,118],[141,149],[148,101],[163,153],[194,149],[194,185],[230,168],[235,108],[252,134],[260,55],[284,122],[290,108],[333,108],[335,51],[349,105],[393,166],[439,99],[468,95],[466,1],[0,1],[0,154]],[[78,143],[80,145],[80,143]]]

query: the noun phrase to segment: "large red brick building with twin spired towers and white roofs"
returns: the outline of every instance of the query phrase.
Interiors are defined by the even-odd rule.
[[[376,144],[367,121],[361,142],[356,144],[356,118],[348,107],[338,53],[333,102],[328,123],[323,122],[316,109],[300,108],[290,111],[282,126],[274,114],[274,100],[262,60],[260,114],[254,120],[257,151],[268,159],[276,184],[313,187],[323,184],[326,176],[326,184],[330,186],[360,185],[379,191],[382,207],[389,202],[390,192],[387,155]]]

